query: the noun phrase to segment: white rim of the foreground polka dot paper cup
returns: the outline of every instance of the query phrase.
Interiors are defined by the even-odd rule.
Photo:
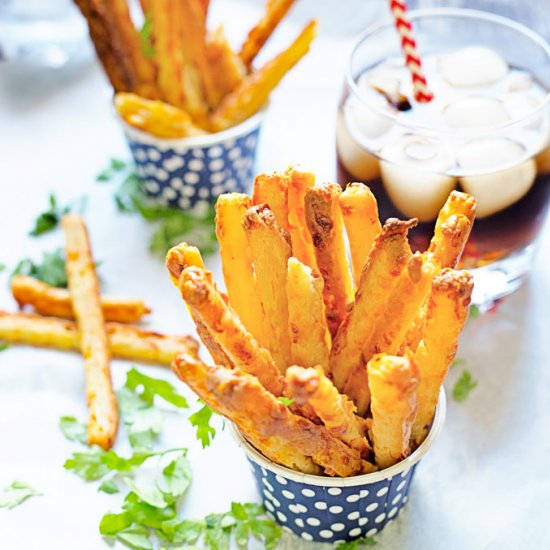
[[[253,462],[259,464],[266,470],[270,470],[271,472],[280,475],[283,478],[295,481],[297,483],[315,485],[318,487],[356,487],[359,485],[370,485],[372,483],[378,483],[379,481],[395,477],[398,474],[409,470],[416,463],[418,463],[428,452],[434,441],[437,439],[439,433],[441,432],[441,429],[445,422],[446,410],[447,402],[445,397],[445,390],[441,388],[441,391],[439,392],[439,399],[437,401],[435,417],[432,423],[432,427],[430,428],[430,432],[428,433],[426,439],[412,454],[410,454],[407,458],[404,458],[397,464],[394,464],[389,468],[385,468],[384,470],[351,477],[325,477],[313,474],[304,474],[297,472],[296,470],[291,470],[286,466],[276,464],[272,460],[262,455],[243,437],[243,435],[239,432],[239,430],[233,423],[230,424],[229,429],[231,435],[237,441],[237,444],[244,449],[247,456]]]

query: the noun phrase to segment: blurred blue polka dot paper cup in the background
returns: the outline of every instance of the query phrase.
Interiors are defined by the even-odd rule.
[[[260,111],[222,132],[177,139],[158,138],[119,119],[144,194],[157,206],[193,210],[222,193],[250,189],[263,117]]]

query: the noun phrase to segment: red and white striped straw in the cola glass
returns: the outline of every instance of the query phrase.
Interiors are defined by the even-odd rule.
[[[419,103],[428,103],[434,95],[428,88],[422,70],[422,61],[418,55],[412,24],[407,14],[407,3],[405,0],[390,0],[390,8],[395,20],[395,27],[401,37],[401,48],[405,55],[405,63],[411,72],[414,98]]]

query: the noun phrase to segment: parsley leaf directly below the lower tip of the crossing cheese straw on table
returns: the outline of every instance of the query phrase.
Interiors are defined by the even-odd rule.
[[[86,481],[95,481],[111,471],[131,472],[154,454],[139,452],[124,458],[112,449],[104,451],[99,447],[91,447],[84,452],[73,453],[73,456],[65,461],[64,467]]]

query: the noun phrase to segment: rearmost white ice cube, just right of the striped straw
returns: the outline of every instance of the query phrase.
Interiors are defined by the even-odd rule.
[[[503,57],[484,46],[470,46],[439,58],[441,76],[456,88],[485,86],[498,82],[508,72]]]

